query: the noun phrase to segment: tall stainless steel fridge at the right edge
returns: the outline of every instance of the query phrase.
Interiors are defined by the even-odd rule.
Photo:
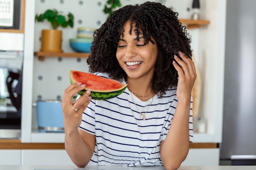
[[[255,0],[227,0],[220,165],[256,165],[255,7]]]

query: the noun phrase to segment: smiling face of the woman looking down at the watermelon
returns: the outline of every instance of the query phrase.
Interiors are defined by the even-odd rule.
[[[130,35],[130,22],[124,24],[124,37],[120,36],[117,46],[117,60],[129,78],[152,78],[157,60],[157,45],[149,42],[146,44],[143,35],[139,36],[134,32]],[[155,42],[154,38],[151,39]]]

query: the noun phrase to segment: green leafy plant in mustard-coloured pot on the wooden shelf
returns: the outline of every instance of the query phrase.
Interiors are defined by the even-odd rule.
[[[62,31],[58,30],[58,27],[66,28],[74,26],[74,16],[72,13],[68,13],[67,16],[61,15],[56,9],[47,9],[45,13],[36,14],[35,20],[37,22],[43,22],[47,20],[51,23],[52,29],[43,29],[41,36],[41,49],[40,51],[49,52],[62,52]]]

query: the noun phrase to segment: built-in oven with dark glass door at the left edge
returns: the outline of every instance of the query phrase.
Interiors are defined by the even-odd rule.
[[[0,51],[0,139],[20,138],[23,53]]]

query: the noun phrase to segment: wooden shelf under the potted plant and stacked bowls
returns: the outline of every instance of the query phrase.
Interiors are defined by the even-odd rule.
[[[83,57],[88,58],[90,53],[63,53],[63,52],[34,52],[34,56],[38,56],[38,60],[44,61],[45,57]]]

